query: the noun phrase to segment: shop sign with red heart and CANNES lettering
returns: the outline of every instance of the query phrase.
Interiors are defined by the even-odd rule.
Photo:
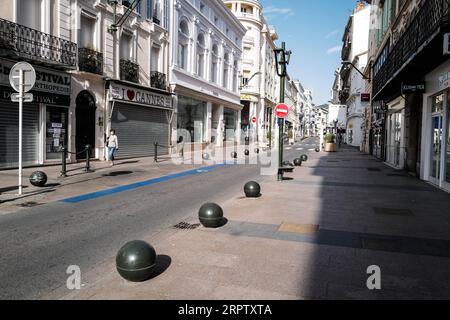
[[[134,102],[149,107],[172,109],[172,99],[169,95],[127,87],[118,83],[111,83],[110,93],[114,100]]]

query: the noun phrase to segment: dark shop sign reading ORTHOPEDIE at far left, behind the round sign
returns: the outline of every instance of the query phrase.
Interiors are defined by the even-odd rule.
[[[0,100],[11,100],[14,89],[9,83],[9,73],[15,62],[0,60]],[[30,92],[34,102],[48,105],[70,106],[71,76],[64,72],[33,66],[36,83]]]

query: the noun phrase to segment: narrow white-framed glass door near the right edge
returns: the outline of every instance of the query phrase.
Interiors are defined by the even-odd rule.
[[[444,94],[433,98],[431,117],[431,168],[430,180],[440,185],[441,178],[441,156],[443,140],[443,120],[444,120]]]

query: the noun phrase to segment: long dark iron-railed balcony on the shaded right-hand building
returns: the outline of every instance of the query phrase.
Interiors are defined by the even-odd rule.
[[[374,98],[379,95],[383,88],[400,72],[409,72],[408,70],[405,70],[407,66],[412,64],[416,67],[419,65],[423,66],[424,69],[422,69],[422,72],[426,73],[441,63],[440,59],[437,58],[436,52],[433,51],[430,56],[426,54],[425,49],[432,47],[434,49],[439,48],[441,55],[441,40],[436,40],[439,43],[436,42],[433,46],[431,41],[434,41],[432,39],[436,39],[434,35],[436,35],[441,27],[449,26],[449,4],[450,0],[426,0],[424,2],[410,25],[405,29],[403,34],[398,38],[398,41],[392,47],[384,64],[375,74],[373,80]],[[419,54],[419,52],[421,52],[421,54]],[[422,56],[421,61],[415,59],[419,56]],[[411,63],[412,60],[417,61]],[[417,68],[414,72],[411,70],[410,73],[417,76]],[[407,78],[408,76],[408,73],[402,75],[403,78]],[[400,86],[397,87],[400,88]]]

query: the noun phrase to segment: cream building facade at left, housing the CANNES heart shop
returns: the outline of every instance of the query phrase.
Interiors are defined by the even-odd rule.
[[[114,9],[103,0],[2,1],[1,84],[10,107],[0,117],[9,119],[1,125],[0,168],[17,165],[18,115],[7,102],[6,79],[19,60],[38,74],[34,101],[25,106],[25,165],[60,162],[61,147],[76,161],[87,145],[90,157],[104,160],[110,129],[120,137],[120,158],[150,156],[155,142],[168,145],[168,3],[118,2]],[[119,15],[128,18],[114,26]]]

